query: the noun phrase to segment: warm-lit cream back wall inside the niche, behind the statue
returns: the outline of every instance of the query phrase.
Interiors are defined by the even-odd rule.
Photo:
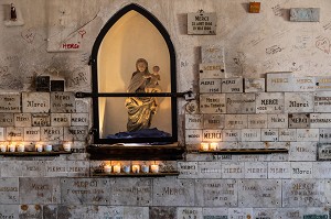
[[[149,72],[160,67],[162,92],[171,92],[170,55],[158,29],[142,14],[131,10],[107,32],[97,55],[98,92],[127,92],[138,58],[148,62]],[[159,108],[150,128],[171,133],[171,98],[157,97]],[[99,136],[127,131],[126,97],[98,98]]]

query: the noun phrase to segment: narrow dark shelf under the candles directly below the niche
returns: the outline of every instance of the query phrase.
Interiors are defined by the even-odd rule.
[[[105,173],[95,172],[93,176],[95,177],[164,177],[164,176],[178,176],[179,172],[160,172],[160,173]]]

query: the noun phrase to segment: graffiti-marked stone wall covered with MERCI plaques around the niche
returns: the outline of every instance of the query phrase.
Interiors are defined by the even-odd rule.
[[[1,156],[0,218],[330,218],[331,1],[261,1],[253,14],[244,0],[20,0],[18,22],[10,3],[0,13],[0,141],[74,144],[72,154]],[[179,99],[189,153],[161,163],[179,176],[93,177],[102,162],[85,153],[92,103],[74,92],[90,91],[95,39],[129,3],[168,30],[178,91],[196,94]],[[320,8],[320,21],[292,22],[290,8]],[[215,35],[188,35],[186,14],[201,9],[216,13]],[[60,48],[61,37],[70,41]],[[200,73],[207,45],[224,48],[225,72],[213,78]],[[64,91],[36,91],[36,76],[64,80]],[[201,142],[289,152],[199,153]]]

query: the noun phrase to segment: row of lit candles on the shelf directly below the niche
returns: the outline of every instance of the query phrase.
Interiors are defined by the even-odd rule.
[[[150,168],[150,169],[149,169]],[[119,173],[126,173],[126,174],[129,174],[131,173],[131,169],[132,169],[132,173],[135,174],[139,174],[140,171],[145,174],[147,173],[159,173],[159,165],[158,164],[152,164],[152,165],[139,165],[139,164],[134,164],[132,166],[131,165],[120,165],[120,164],[116,164],[116,165],[105,165],[104,166],[104,172],[107,173],[107,174],[110,174],[111,171],[113,173],[115,174],[119,174]]]

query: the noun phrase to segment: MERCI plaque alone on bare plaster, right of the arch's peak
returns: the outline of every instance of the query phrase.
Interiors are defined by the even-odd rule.
[[[216,13],[188,13],[189,35],[216,35]]]

